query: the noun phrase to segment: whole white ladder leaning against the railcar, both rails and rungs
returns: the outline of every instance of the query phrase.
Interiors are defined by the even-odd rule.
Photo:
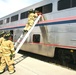
[[[37,19],[35,20],[33,26],[31,27],[31,29],[26,33],[26,34],[21,34],[21,36],[19,37],[19,39],[17,40],[17,42],[15,43],[14,47],[16,47],[16,51],[15,53],[18,53],[19,49],[21,48],[21,46],[23,45],[23,43],[25,42],[25,40],[27,39],[27,37],[29,36],[29,34],[32,32],[33,28],[35,27],[35,25],[38,23],[39,19],[40,19],[41,15],[39,15],[37,17]],[[22,39],[22,40],[21,40]]]

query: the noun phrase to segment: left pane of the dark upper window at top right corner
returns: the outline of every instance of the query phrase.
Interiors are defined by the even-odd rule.
[[[70,8],[71,0],[60,0],[58,1],[58,10]]]

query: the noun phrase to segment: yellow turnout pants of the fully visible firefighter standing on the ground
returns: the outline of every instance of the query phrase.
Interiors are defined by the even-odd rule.
[[[3,71],[8,67],[9,72],[14,71],[14,60],[10,59],[10,56],[2,56],[1,57],[1,64],[0,64],[0,71]]]

